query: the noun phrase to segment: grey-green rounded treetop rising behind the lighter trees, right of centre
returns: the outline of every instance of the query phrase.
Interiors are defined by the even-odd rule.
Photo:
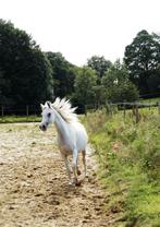
[[[93,56],[87,61],[87,67],[91,68],[93,70],[96,70],[97,75],[99,79],[102,77],[104,72],[112,65],[111,61],[106,60],[104,57],[99,56]],[[99,80],[100,81],[100,80]]]

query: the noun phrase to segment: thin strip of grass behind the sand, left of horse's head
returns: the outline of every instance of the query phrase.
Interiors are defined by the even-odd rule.
[[[5,116],[0,118],[0,123],[21,123],[21,122],[40,122],[40,121],[41,121],[41,117],[37,117],[37,116],[28,116],[28,117]]]

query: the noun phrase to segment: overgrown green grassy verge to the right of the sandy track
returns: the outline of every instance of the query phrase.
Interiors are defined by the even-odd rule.
[[[89,113],[85,124],[100,164],[108,194],[107,212],[123,214],[115,226],[160,226],[160,119],[143,110],[139,123],[131,112]]]

